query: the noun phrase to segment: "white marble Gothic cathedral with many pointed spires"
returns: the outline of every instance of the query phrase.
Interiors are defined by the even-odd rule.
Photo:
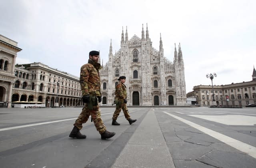
[[[184,61],[180,44],[174,45],[174,60],[164,56],[160,34],[159,50],[152,47],[148,25],[142,24],[141,38],[121,34],[121,48],[113,54],[112,41],[108,62],[100,70],[102,105],[111,106],[119,76],[126,76],[128,106],[182,106],[186,104]]]

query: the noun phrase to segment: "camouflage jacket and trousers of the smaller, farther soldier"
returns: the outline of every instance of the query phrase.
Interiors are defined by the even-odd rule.
[[[126,86],[122,82],[119,82],[116,85],[115,94],[116,94],[115,99],[118,101],[118,103],[116,104],[116,110],[113,114],[112,120],[117,120],[121,110],[123,110],[126,120],[129,120],[131,117],[129,115],[128,108],[124,103],[124,100],[127,98]]]

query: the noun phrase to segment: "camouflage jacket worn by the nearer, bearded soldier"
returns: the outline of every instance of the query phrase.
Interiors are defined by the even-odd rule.
[[[102,68],[99,63],[88,60],[88,64],[84,64],[80,69],[80,84],[82,96],[92,94],[101,96],[100,93],[100,74]]]

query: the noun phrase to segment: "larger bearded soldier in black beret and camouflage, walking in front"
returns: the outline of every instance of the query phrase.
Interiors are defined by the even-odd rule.
[[[74,123],[74,128],[69,135],[70,138],[86,138],[86,135],[82,135],[80,130],[82,129],[82,124],[87,122],[89,116],[91,116],[96,130],[100,133],[101,139],[111,138],[116,134],[106,130],[106,126],[100,117],[100,107],[98,104],[98,102],[101,102],[99,70],[102,67],[98,63],[99,55],[100,52],[91,51],[88,64],[84,64],[80,69],[82,100],[85,105]]]

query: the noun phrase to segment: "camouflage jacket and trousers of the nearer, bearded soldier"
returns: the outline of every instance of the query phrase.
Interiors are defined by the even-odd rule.
[[[82,95],[90,94],[92,96],[101,96],[100,93],[100,70],[101,66],[99,63],[89,59],[88,64],[84,64],[80,70],[80,84],[82,89]],[[98,102],[98,100],[96,100]],[[94,125],[97,131],[102,134],[106,130],[101,117],[100,117],[100,106],[97,103],[96,106],[92,106],[92,110],[89,109],[88,103],[85,104],[82,112],[76,119],[74,126],[79,130],[82,129],[82,124],[86,123],[89,116],[92,117]]]

